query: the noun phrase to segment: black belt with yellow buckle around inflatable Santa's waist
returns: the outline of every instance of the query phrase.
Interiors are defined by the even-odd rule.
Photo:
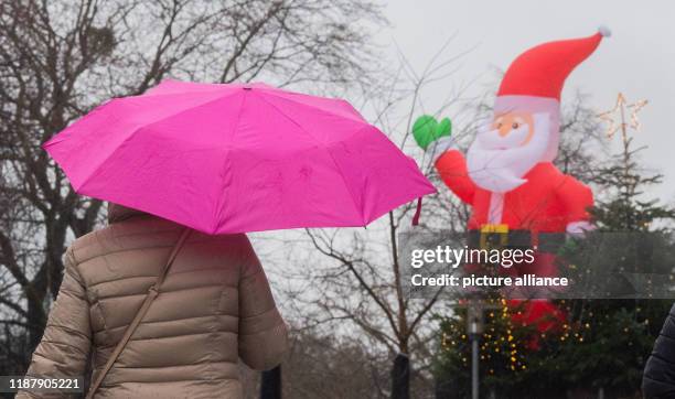
[[[565,244],[565,233],[537,234],[537,251],[557,252]],[[531,230],[508,230],[507,233],[469,230],[469,248],[517,249],[533,248]]]

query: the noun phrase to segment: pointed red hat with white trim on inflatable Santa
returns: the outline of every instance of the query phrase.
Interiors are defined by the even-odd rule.
[[[551,136],[545,160],[553,161],[558,152],[560,91],[565,79],[610,34],[609,29],[600,28],[588,37],[539,44],[521,54],[506,69],[494,110],[550,114]]]

